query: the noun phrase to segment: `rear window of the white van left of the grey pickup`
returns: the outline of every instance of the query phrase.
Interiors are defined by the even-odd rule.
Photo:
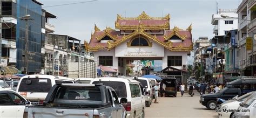
[[[51,80],[45,78],[24,78],[19,85],[18,92],[49,92]]]

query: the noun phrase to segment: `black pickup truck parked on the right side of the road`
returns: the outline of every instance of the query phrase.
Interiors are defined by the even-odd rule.
[[[201,95],[199,102],[208,109],[214,110],[217,107],[217,98],[228,100],[241,94],[239,87],[225,87],[218,93]]]

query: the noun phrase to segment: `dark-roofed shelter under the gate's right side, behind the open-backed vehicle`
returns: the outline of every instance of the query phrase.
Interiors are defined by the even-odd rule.
[[[161,70],[161,75],[159,77],[171,77],[176,78],[178,84],[183,83],[185,86],[187,85],[188,72],[186,70],[179,70],[172,66],[167,66],[163,70]]]

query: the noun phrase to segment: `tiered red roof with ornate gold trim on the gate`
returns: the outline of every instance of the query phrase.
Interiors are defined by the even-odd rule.
[[[99,50],[111,50],[112,48],[124,43],[126,40],[130,40],[139,34],[146,37],[149,40],[167,48],[170,51],[191,51],[193,50],[192,43],[192,25],[188,26],[186,30],[179,29],[178,26],[174,26],[170,30],[170,14],[165,17],[154,18],[146,15],[143,12],[136,18],[124,18],[117,15],[116,29],[113,30],[110,27],[106,27],[105,30],[100,29],[95,25],[95,31],[91,34],[90,42],[85,41],[85,48],[87,51],[99,51]],[[130,34],[120,34],[119,30],[133,31]],[[149,34],[147,30],[164,30],[164,34]],[[109,37],[112,40],[107,43],[101,43],[104,37]],[[176,36],[180,38],[181,42],[172,42],[171,37]]]

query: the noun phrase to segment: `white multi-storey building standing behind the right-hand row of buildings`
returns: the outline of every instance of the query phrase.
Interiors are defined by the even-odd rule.
[[[230,16],[227,18],[221,15]],[[212,15],[212,25],[214,25],[213,33],[215,36],[223,36],[228,31],[237,29],[237,9],[219,9],[216,14]]]

